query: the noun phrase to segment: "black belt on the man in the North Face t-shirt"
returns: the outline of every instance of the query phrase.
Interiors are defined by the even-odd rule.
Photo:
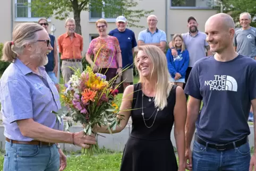
[[[212,143],[209,143],[209,142],[206,142],[206,141],[202,140],[198,136],[195,136],[195,141],[202,144],[203,146],[206,146],[206,143],[208,143],[207,147],[212,148],[212,149],[216,149],[218,151],[231,150],[231,149],[235,148],[233,142],[229,142],[229,143],[226,143],[226,144],[212,144]],[[243,144],[245,144],[247,142],[248,142],[248,136],[245,136],[243,139],[234,141],[236,147],[240,147],[240,146],[242,146]]]

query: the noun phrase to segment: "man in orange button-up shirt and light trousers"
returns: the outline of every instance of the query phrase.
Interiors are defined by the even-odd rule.
[[[58,37],[59,53],[62,59],[62,76],[64,83],[70,80],[74,70],[80,69],[82,72],[82,51],[83,38],[75,33],[75,20],[70,18],[65,23],[66,33]],[[72,67],[72,70],[70,67]]]

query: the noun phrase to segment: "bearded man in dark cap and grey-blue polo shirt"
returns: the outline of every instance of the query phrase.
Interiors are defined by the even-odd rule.
[[[198,30],[197,20],[193,16],[190,16],[190,18],[187,19],[187,27],[189,28],[189,32],[182,33],[183,41],[190,56],[189,67],[187,67],[186,70],[185,82],[187,82],[195,62],[202,57],[206,57],[206,50],[207,56],[211,55],[209,44],[206,41],[206,33]],[[169,48],[172,49],[172,55],[177,56],[177,50],[174,48],[172,41],[169,42]],[[185,88],[185,84],[183,88]],[[187,95],[186,98],[188,98]]]

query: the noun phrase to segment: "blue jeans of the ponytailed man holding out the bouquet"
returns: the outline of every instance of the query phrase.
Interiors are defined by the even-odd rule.
[[[56,144],[37,146],[5,143],[3,171],[58,171],[59,153]]]

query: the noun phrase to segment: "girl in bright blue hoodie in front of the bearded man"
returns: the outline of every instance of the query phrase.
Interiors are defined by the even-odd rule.
[[[175,85],[183,88],[185,83],[185,75],[187,67],[189,66],[189,52],[185,49],[185,44],[183,42],[182,35],[176,34],[173,37],[173,45],[178,52],[178,56],[172,55],[172,50],[168,49],[166,53],[167,65],[171,82]]]

